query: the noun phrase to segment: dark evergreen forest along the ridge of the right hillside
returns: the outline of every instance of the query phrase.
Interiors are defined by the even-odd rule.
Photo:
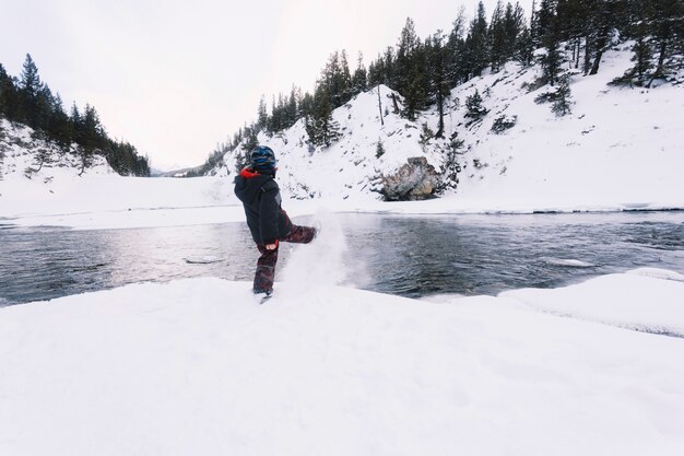
[[[210,154],[192,175],[213,168],[228,151],[244,155],[260,132],[275,135],[304,118],[309,145],[329,147],[339,138],[332,110],[358,93],[385,84],[403,97],[394,109],[408,119],[436,106],[444,137],[446,101],[451,89],[480,77],[486,69],[498,72],[508,61],[523,67],[540,65],[542,77],[531,90],[550,85],[542,102],[567,112],[571,72],[592,75],[600,71],[603,54],[620,43],[632,43],[634,66],[613,84],[651,87],[676,80],[684,69],[684,2],[682,0],[541,0],[531,14],[503,1],[491,16],[480,2],[468,20],[461,7],[450,31],[437,31],[421,39],[409,17],[396,46],[388,46],[366,68],[358,55],[352,70],[345,50],[333,52],[321,70],[314,93],[293,86],[273,96],[271,108],[261,97],[257,119],[245,124],[226,143]],[[476,101],[474,101],[476,102]],[[469,108],[471,108],[469,106]],[[476,112],[477,106],[472,106]]]

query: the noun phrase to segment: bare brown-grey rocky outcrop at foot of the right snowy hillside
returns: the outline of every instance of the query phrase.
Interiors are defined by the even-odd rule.
[[[409,159],[397,173],[380,176],[380,194],[387,201],[417,201],[433,198],[443,187],[441,175],[424,156]]]

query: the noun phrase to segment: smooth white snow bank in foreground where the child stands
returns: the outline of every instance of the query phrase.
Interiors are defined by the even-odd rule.
[[[638,295],[621,274],[546,302],[611,319],[684,302],[681,282],[628,278],[647,279]],[[204,278],[0,308],[0,454],[681,455],[683,339],[534,296],[295,280],[258,305]]]

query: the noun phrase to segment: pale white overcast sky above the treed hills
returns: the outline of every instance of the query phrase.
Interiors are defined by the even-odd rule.
[[[418,36],[448,32],[476,0],[0,0],[0,62],[26,54],[68,108],[95,106],[110,137],[154,167],[201,164],[256,118],[261,95],[311,92],[328,57],[366,67],[396,45],[408,16]],[[495,0],[484,0],[490,16]],[[529,14],[531,1],[521,2]]]

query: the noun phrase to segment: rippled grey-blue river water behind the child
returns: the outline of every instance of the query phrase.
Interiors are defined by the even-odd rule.
[[[344,267],[363,271],[353,274],[355,283],[404,296],[552,288],[637,267],[684,272],[684,212],[337,220],[346,239]],[[293,248],[283,246],[279,268]],[[0,223],[0,305],[141,281],[251,280],[257,256],[244,223],[103,231]],[[326,261],[325,253],[318,260]]]

